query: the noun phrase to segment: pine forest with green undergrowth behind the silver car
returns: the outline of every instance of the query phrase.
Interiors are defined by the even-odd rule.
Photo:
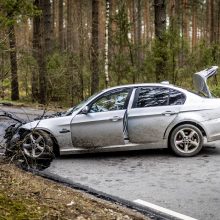
[[[220,65],[220,0],[0,0],[0,100],[72,106]],[[217,78],[211,88],[220,95]]]

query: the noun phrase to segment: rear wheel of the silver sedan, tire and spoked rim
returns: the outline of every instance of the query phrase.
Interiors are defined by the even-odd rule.
[[[176,155],[182,157],[192,157],[198,154],[203,142],[202,132],[191,124],[176,127],[170,136],[171,149]]]

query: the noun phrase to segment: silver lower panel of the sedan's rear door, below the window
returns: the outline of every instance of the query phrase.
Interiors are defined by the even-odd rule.
[[[179,106],[134,108],[128,111],[128,134],[131,143],[156,143],[178,115]],[[171,112],[171,114],[166,114]]]

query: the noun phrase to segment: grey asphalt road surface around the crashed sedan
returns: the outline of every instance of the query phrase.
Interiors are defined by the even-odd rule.
[[[9,110],[18,114],[17,109]],[[31,117],[38,113],[25,111]],[[20,117],[25,117],[20,113]],[[0,135],[5,126],[6,121],[0,119]],[[176,157],[168,150],[60,157],[44,172],[196,219],[220,219],[220,142],[193,158]]]

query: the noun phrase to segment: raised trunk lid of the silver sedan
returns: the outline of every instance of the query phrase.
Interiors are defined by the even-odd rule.
[[[208,69],[197,72],[193,76],[193,84],[198,93],[211,98],[212,94],[207,85],[207,79],[217,74],[218,66],[212,66]]]

